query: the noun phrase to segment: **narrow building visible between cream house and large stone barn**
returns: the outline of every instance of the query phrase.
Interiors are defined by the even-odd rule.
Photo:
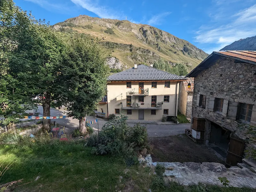
[[[190,87],[188,86],[190,85]],[[187,78],[180,82],[178,110],[187,118],[192,115],[192,100],[194,91],[194,78]]]

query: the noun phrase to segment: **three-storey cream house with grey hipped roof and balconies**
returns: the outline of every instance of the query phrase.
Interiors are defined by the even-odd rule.
[[[98,112],[129,119],[161,120],[177,116],[179,82],[184,78],[135,64],[133,68],[109,76],[106,102],[100,102]]]

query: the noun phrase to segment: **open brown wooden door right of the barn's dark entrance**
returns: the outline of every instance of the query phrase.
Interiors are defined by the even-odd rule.
[[[244,152],[244,140],[231,136],[230,142],[228,145],[228,155],[226,164],[228,166],[236,166],[237,163],[242,161],[243,152]]]

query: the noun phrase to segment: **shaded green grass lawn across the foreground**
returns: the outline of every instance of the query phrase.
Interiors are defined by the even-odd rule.
[[[4,174],[0,183],[24,178],[14,191],[147,191],[152,192],[252,192],[248,188],[218,186],[163,185],[163,180],[151,168],[138,164],[127,167],[124,159],[109,155],[92,155],[91,148],[75,141],[51,140],[46,144],[30,143],[0,145],[0,162],[16,162]],[[36,177],[40,178],[35,181]],[[20,185],[21,185],[20,184]],[[130,190],[129,190],[130,189]]]

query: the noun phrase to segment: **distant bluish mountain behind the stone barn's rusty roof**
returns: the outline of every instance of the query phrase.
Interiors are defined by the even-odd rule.
[[[250,50],[256,51],[256,36],[247,37],[246,39],[240,39],[220,49],[222,50]]]

